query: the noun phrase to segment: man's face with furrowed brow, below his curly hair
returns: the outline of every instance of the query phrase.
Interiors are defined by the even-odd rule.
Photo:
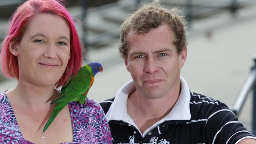
[[[177,53],[174,33],[167,24],[139,35],[131,30],[127,40],[129,48],[124,62],[139,95],[156,99],[179,91],[180,68],[187,48]]]

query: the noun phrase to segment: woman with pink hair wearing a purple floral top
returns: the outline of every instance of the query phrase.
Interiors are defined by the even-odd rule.
[[[0,94],[0,143],[109,144],[100,105],[69,103],[43,133],[60,92],[82,66],[74,21],[56,0],[28,0],[11,17],[0,54],[2,73],[17,85]]]

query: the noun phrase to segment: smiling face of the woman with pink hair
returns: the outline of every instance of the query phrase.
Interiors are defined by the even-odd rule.
[[[13,47],[19,63],[19,81],[54,86],[70,59],[70,30],[62,17],[38,14],[28,24],[20,43]]]

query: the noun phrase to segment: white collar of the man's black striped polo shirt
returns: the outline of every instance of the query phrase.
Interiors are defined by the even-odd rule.
[[[181,92],[180,96],[175,103],[173,109],[167,116],[160,121],[166,120],[190,120],[190,92],[189,87],[185,79],[180,77]],[[111,104],[108,113],[106,114],[107,120],[121,120],[126,117],[126,103],[130,93],[135,90],[135,84],[133,80],[125,83],[121,89],[117,92],[114,102]]]

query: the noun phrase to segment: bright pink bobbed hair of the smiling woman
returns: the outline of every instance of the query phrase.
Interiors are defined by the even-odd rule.
[[[63,76],[56,83],[56,87],[65,85],[72,73],[76,74],[82,66],[82,46],[74,25],[74,21],[67,9],[56,0],[28,0],[17,8],[11,17],[9,31],[3,41],[0,54],[2,73],[7,78],[17,78],[19,80],[19,66],[17,57],[9,50],[11,41],[20,42],[26,26],[28,26],[33,16],[38,13],[50,13],[63,17],[70,29],[70,59]]]

